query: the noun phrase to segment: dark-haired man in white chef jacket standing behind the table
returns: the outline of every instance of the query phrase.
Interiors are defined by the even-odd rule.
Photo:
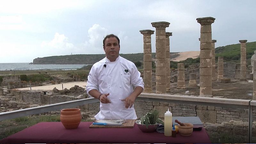
[[[133,62],[119,56],[117,36],[106,36],[103,49],[106,57],[92,66],[86,85],[87,93],[100,100],[95,118],[137,119],[133,103],[144,89],[140,72]]]

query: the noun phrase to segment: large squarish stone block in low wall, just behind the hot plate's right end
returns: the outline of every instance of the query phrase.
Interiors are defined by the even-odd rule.
[[[216,111],[214,110],[196,110],[197,116],[201,119],[202,122],[208,122],[208,123],[216,123],[217,116]]]

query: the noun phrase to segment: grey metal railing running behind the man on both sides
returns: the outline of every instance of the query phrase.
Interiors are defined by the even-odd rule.
[[[248,141],[249,143],[252,142],[252,110],[256,109],[256,100],[192,97],[192,96],[183,96],[183,95],[181,96],[181,95],[167,95],[167,94],[155,94],[155,93],[151,93],[151,94],[141,93],[136,100],[249,109]],[[73,101],[67,101],[62,103],[39,106],[34,108],[26,108],[26,109],[20,109],[15,111],[3,112],[3,113],[0,113],[0,121],[21,117],[21,116],[28,116],[28,115],[33,115],[33,114],[38,114],[43,112],[49,112],[52,110],[59,110],[62,108],[70,108],[70,107],[75,107],[75,106],[80,106],[80,105],[90,104],[95,102],[99,102],[99,100],[95,98],[87,98],[87,99],[73,100]]]

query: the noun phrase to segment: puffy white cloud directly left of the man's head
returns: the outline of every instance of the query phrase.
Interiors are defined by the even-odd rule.
[[[89,40],[85,41],[84,52],[85,54],[96,54],[96,53],[104,53],[103,50],[103,39],[104,36],[107,35],[107,29],[101,27],[99,24],[94,24],[88,30]]]

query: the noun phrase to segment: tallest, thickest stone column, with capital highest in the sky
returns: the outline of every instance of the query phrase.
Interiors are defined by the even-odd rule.
[[[200,31],[200,95],[212,95],[212,23],[215,18],[197,18]]]

